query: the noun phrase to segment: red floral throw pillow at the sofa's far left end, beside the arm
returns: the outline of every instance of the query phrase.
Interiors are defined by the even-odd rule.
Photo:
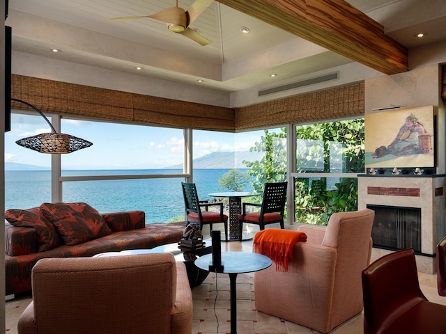
[[[36,231],[38,252],[52,249],[59,244],[59,235],[39,207],[9,209],[5,212],[5,218],[11,225],[33,228]]]

